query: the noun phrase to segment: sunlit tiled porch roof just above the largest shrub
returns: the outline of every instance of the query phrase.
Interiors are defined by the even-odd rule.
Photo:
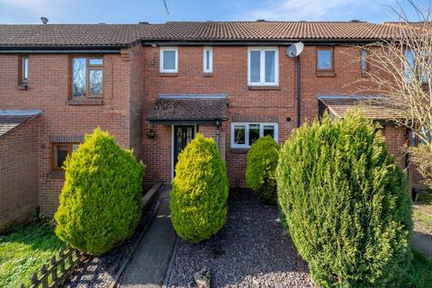
[[[392,107],[385,107],[362,97],[341,96],[341,97],[319,97],[320,101],[326,105],[330,112],[338,118],[343,119],[349,110],[359,110],[367,119],[376,121],[392,121],[395,118],[403,117]]]

